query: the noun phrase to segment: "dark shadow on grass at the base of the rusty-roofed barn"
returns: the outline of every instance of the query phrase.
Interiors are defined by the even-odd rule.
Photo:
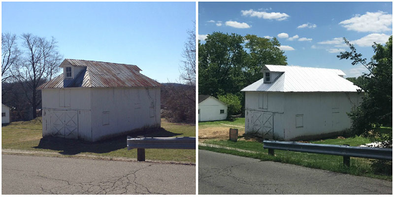
[[[62,151],[60,154],[63,155],[76,155],[79,153],[108,153],[123,149],[127,147],[127,136],[137,137],[172,137],[181,135],[182,133],[174,133],[166,131],[163,128],[146,129],[141,131],[134,131],[121,136],[105,139],[97,142],[88,142],[76,139],[66,139],[61,137],[42,137],[38,146],[33,148],[37,149],[49,149]]]

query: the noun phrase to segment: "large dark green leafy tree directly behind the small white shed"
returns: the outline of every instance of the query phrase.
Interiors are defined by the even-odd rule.
[[[244,87],[243,68],[247,57],[243,36],[214,32],[198,44],[199,94],[217,97],[238,93]]]

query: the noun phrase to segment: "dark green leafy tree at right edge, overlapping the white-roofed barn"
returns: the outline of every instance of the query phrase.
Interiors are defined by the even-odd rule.
[[[346,38],[344,40],[350,52],[341,52],[337,57],[350,59],[352,65],[361,64],[369,70],[354,82],[364,92],[364,97],[361,105],[349,113],[353,121],[351,130],[371,141],[383,142],[385,147],[392,147],[392,132],[383,133],[379,128],[393,126],[393,36],[386,45],[373,44],[375,55],[370,62],[361,58],[362,55]]]

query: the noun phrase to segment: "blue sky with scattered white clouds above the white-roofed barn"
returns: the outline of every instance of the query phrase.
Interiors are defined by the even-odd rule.
[[[346,37],[368,60],[373,41],[393,33],[392,2],[199,2],[198,36],[212,32],[276,37],[288,65],[341,69],[346,77],[367,70],[339,60]],[[204,43],[202,41],[201,43]]]

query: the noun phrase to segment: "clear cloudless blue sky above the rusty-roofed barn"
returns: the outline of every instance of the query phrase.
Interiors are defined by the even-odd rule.
[[[58,41],[64,58],[139,66],[175,82],[195,2],[1,2],[1,31]]]

